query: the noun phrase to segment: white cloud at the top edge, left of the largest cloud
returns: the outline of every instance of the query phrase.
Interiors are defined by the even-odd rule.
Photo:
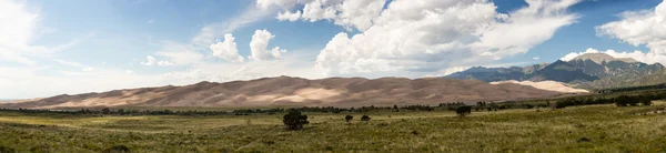
[[[278,14],[279,20],[330,20],[347,30],[365,31],[385,3],[386,0],[258,0],[256,6],[261,9],[282,8],[284,11]],[[297,4],[303,4],[303,9],[290,11]]]

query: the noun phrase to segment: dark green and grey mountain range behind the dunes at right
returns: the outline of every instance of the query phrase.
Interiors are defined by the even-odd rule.
[[[496,82],[558,81],[585,89],[607,89],[666,83],[664,65],[647,64],[629,58],[613,58],[605,53],[586,53],[569,61],[557,60],[527,67],[475,67],[445,78]]]

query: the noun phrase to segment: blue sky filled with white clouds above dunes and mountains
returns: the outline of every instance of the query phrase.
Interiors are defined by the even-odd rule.
[[[663,0],[0,0],[0,99],[265,76],[666,64]]]

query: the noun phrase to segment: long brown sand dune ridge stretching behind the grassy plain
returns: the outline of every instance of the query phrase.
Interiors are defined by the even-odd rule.
[[[254,105],[404,105],[443,102],[505,101],[547,98],[561,92],[512,83],[488,84],[444,78],[263,78],[225,83],[200,82],[184,86],[115,90],[58,95],[0,108],[88,106],[254,106]]]

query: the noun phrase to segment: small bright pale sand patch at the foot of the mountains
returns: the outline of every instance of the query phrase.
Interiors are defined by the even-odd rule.
[[[533,86],[533,88],[541,89],[541,90],[563,92],[563,93],[588,93],[589,92],[587,90],[574,89],[574,88],[567,86],[566,84],[564,84],[562,82],[557,82],[557,81],[532,82],[532,81],[509,80],[509,81],[491,82],[491,84],[506,84],[506,83],[528,85],[528,86]]]

